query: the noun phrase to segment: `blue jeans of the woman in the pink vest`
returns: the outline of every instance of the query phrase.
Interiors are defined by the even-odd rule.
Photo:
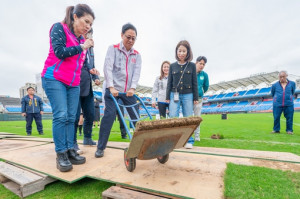
[[[62,153],[74,147],[74,123],[80,88],[48,78],[42,78],[42,84],[53,112],[52,134],[55,151]]]

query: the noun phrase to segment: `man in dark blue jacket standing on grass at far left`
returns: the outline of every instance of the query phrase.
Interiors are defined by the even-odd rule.
[[[37,130],[40,135],[43,135],[42,115],[43,101],[39,96],[34,95],[35,90],[32,87],[27,88],[28,95],[22,98],[22,116],[26,117],[26,132],[31,135],[32,121],[35,120]]]

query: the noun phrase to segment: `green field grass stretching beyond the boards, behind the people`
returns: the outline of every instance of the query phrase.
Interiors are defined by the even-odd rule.
[[[281,121],[281,133],[270,134],[273,117],[271,113],[260,114],[229,114],[227,120],[221,120],[221,115],[202,115],[201,141],[195,146],[250,149],[263,151],[291,152],[300,155],[300,112],[294,116],[294,135],[285,132],[285,122]],[[282,117],[282,120],[285,120]],[[33,136],[52,137],[51,121],[44,120],[44,133],[40,136],[33,124]],[[25,121],[0,122],[0,131],[26,135]],[[97,140],[99,129],[93,129],[93,139]],[[212,134],[222,134],[224,139],[214,140]],[[82,139],[82,136],[78,136]],[[119,123],[115,122],[109,138],[110,141],[129,142],[121,139]]]

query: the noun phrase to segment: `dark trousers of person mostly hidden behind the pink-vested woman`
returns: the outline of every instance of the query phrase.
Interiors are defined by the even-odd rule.
[[[75,119],[74,143],[77,143],[77,128],[78,128],[81,109],[84,118],[84,122],[83,122],[84,137],[91,138],[92,131],[93,131],[93,121],[95,116],[94,95],[92,91],[90,91],[88,96],[79,97],[79,103],[78,103],[76,119]]]

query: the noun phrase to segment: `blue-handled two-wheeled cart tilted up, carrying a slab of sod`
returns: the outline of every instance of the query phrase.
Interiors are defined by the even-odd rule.
[[[120,104],[112,94],[110,96],[117,107],[122,120],[120,122],[123,122],[126,133],[131,140],[129,147],[124,150],[124,163],[130,172],[136,168],[136,159],[151,160],[156,158],[161,164],[166,163],[169,159],[169,153],[174,149],[182,148],[202,121],[201,117],[153,120],[143,100],[137,95],[134,95],[137,103],[133,105]],[[143,117],[139,115],[137,106],[139,109],[145,110]],[[132,119],[129,114],[123,115],[120,107],[124,109],[124,113],[132,109],[137,119]],[[127,115],[126,118],[125,115]],[[147,118],[150,121],[145,121]],[[133,135],[130,133],[126,121],[134,129]],[[137,122],[136,126],[134,122]]]

